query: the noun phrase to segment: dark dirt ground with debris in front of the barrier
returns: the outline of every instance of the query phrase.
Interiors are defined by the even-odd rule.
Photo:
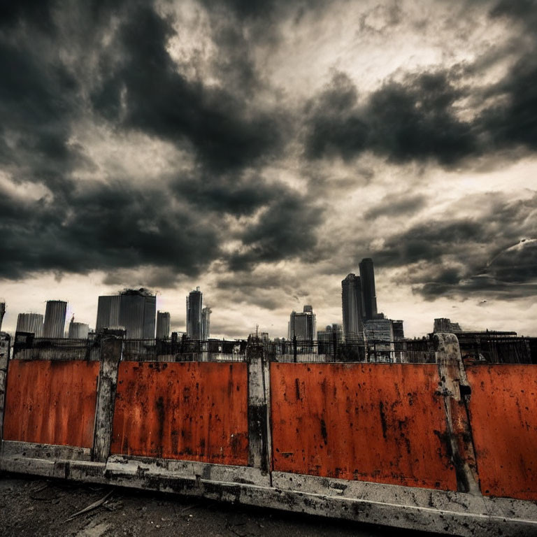
[[[68,520],[107,494],[110,495],[101,506]],[[4,473],[0,474],[0,535],[425,537],[428,534],[172,494]]]

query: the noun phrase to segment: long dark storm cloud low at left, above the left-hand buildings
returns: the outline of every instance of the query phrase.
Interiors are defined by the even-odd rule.
[[[0,276],[32,271],[88,273],[145,264],[196,274],[218,252],[219,231],[176,208],[164,192],[126,183],[96,186],[59,205],[1,198]],[[169,280],[169,272],[164,280]],[[170,285],[170,281],[159,282]]]

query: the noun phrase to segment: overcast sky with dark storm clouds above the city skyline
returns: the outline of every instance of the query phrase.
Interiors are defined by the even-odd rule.
[[[0,8],[8,313],[149,287],[185,329],[341,322],[375,262],[406,335],[537,336],[537,3],[17,1]]]

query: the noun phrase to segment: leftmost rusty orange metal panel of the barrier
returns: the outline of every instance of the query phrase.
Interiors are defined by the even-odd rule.
[[[92,447],[98,361],[10,360],[4,440]]]

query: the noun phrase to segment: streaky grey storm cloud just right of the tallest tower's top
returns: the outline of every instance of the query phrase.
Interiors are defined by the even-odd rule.
[[[499,199],[491,204],[485,199],[490,196]],[[476,207],[485,203],[487,210],[475,217],[424,222],[391,236],[373,252],[375,263],[410,266],[403,280],[427,299],[527,296],[537,286],[537,248],[531,240],[537,238],[537,194],[515,202],[499,194],[475,196]]]

